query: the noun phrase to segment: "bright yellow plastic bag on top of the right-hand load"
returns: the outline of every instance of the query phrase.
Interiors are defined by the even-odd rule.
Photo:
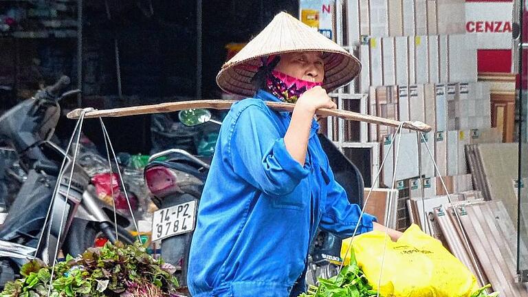
[[[385,232],[373,231],[355,236],[355,259],[369,284],[377,290],[386,242],[380,294],[395,297],[462,297],[478,289],[476,278],[437,239],[423,233],[417,225],[408,228],[397,242]],[[341,257],[351,239],[345,239]],[[344,259],[350,263],[350,255]]]

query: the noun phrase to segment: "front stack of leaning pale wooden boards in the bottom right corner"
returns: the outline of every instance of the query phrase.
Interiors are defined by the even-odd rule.
[[[516,274],[516,233],[502,201],[471,201],[434,208],[433,219],[451,252],[503,296],[528,296]],[[525,262],[526,247],[521,248]]]

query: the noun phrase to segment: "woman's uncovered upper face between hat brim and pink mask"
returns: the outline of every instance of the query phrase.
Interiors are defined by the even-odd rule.
[[[313,83],[322,83],[325,78],[325,64],[321,52],[282,54],[275,70]]]

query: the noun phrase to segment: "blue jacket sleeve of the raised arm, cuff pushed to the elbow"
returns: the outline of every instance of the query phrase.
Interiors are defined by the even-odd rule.
[[[246,104],[233,116],[228,152],[234,172],[267,195],[292,192],[309,170],[289,155],[267,107]]]

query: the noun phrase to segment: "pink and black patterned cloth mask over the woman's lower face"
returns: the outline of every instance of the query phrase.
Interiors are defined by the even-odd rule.
[[[273,70],[266,78],[267,89],[276,98],[289,103],[295,103],[305,91],[320,85],[322,85],[322,83],[301,80],[276,70]]]

